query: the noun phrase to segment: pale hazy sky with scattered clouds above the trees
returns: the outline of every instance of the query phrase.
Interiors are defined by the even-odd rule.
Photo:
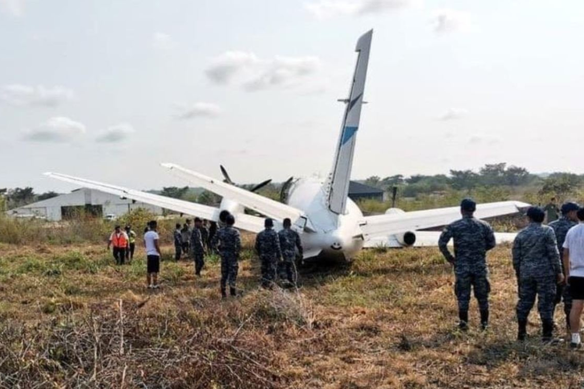
[[[579,0],[0,0],[0,187],[325,176],[372,28],[353,178],[584,173]]]

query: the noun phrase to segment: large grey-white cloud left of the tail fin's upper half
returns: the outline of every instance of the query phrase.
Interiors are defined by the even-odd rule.
[[[215,83],[235,81],[245,90],[253,91],[298,85],[320,66],[317,57],[260,59],[252,52],[228,51],[211,61],[206,74]]]

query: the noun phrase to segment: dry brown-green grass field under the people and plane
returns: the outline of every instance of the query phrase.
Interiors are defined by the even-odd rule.
[[[0,387],[583,387],[584,355],[542,345],[535,313],[529,341],[515,341],[508,247],[489,254],[491,330],[478,331],[473,301],[468,333],[436,249],[363,251],[272,291],[246,251],[244,295],[226,301],[216,261],[195,278],[192,262],[164,251],[151,291],[141,249],[116,267],[95,244],[0,244]]]

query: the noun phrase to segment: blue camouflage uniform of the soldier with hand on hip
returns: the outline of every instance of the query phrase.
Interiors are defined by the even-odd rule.
[[[447,247],[451,238],[454,239],[454,255]],[[458,311],[468,312],[472,286],[481,313],[488,315],[491,285],[485,257],[486,252],[495,247],[495,234],[489,223],[464,216],[444,229],[438,247],[446,260],[454,265]]]

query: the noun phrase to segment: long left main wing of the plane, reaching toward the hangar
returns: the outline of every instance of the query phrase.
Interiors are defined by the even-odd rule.
[[[67,176],[67,174],[60,173],[44,173],[45,176],[57,178],[57,180],[66,181],[68,183],[80,185],[84,188],[91,188],[98,191],[110,193],[123,198],[130,198],[135,201],[145,202],[147,204],[157,205],[162,208],[170,209],[171,211],[185,213],[186,215],[199,216],[199,218],[219,220],[220,209],[213,206],[197,204],[190,201],[180,200],[176,198],[161,196],[148,192],[137,191],[116,185],[99,183],[98,181],[86,180],[85,178],[78,178]],[[246,215],[245,213],[238,213],[235,216],[235,227],[242,230],[258,233],[263,230],[263,219],[257,216]]]

